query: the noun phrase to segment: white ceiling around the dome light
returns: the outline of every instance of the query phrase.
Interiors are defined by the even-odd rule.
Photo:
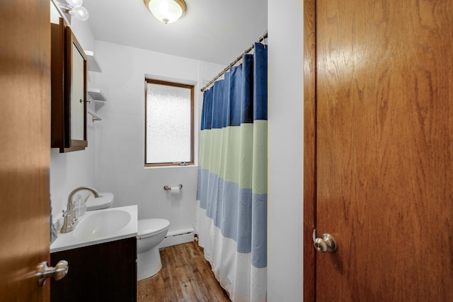
[[[268,29],[267,0],[185,0],[176,23],[156,20],[143,0],[84,0],[96,40],[228,65]]]

